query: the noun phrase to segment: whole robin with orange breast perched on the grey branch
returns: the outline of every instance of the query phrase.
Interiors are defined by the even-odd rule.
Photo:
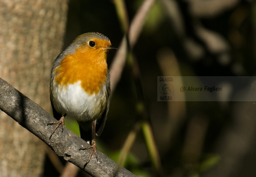
[[[91,146],[79,150],[91,149],[98,160],[95,135],[100,136],[107,119],[110,105],[110,74],[107,65],[107,52],[111,47],[110,39],[98,32],[79,35],[54,60],[51,81],[50,100],[54,118],[58,121],[55,130],[65,117],[76,119],[80,137]]]

